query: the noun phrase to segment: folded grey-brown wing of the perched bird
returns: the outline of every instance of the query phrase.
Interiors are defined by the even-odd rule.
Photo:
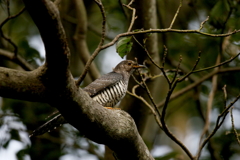
[[[90,95],[90,97],[93,97],[105,88],[119,82],[120,80],[122,80],[122,78],[123,76],[121,74],[116,72],[110,72],[108,74],[102,75],[100,78],[96,79],[88,86],[83,88],[83,90],[86,91]]]

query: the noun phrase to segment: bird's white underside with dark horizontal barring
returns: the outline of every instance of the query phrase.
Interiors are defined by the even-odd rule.
[[[114,107],[125,96],[126,91],[127,84],[123,81],[119,81],[99,92],[93,97],[93,100],[104,107]]]

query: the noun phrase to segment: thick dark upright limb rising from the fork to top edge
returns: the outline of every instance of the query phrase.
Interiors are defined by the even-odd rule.
[[[66,91],[66,86],[72,77],[69,71],[70,51],[59,11],[55,4],[48,0],[24,0],[24,3],[44,43],[46,62],[41,81],[48,93],[52,94],[52,97],[55,96],[52,98],[54,101],[59,95],[70,94],[70,91]]]

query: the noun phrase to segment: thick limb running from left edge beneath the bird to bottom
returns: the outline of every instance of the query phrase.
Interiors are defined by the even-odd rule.
[[[153,159],[126,112],[103,108],[71,78],[64,93],[49,90],[38,76],[45,73],[41,72],[44,67],[31,72],[0,67],[0,96],[48,102],[87,138],[114,150],[119,159]]]

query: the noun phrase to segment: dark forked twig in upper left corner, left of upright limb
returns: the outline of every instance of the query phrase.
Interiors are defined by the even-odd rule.
[[[8,4],[9,5],[9,4]],[[8,37],[6,37],[3,33],[2,27],[4,24],[6,24],[9,20],[16,18],[17,16],[21,15],[23,12],[25,11],[25,7],[23,9],[20,10],[20,12],[18,12],[17,14],[10,16],[10,10],[9,10],[9,6],[8,6],[8,17],[0,24],[0,35],[8,42],[10,43],[14,50],[14,56],[17,56],[17,52],[18,52],[18,48],[17,45]]]

